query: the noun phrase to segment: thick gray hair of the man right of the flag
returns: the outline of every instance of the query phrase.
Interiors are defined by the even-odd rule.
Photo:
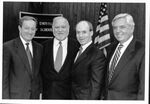
[[[131,26],[134,26],[134,25],[135,25],[134,20],[133,20],[133,17],[132,17],[130,14],[128,14],[128,13],[120,13],[120,14],[116,15],[116,16],[113,18],[113,20],[112,20],[112,26],[114,25],[114,22],[115,22],[116,20],[120,19],[120,18],[125,18],[126,21],[127,21],[127,23],[128,23],[129,25],[131,25]]]

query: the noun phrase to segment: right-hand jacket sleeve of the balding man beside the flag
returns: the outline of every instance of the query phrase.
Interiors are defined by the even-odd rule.
[[[104,86],[106,59],[102,51],[98,51],[91,66],[92,76],[90,82],[90,99],[100,99]]]

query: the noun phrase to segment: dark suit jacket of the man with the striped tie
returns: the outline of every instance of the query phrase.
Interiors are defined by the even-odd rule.
[[[109,60],[117,44],[112,44]],[[108,63],[109,65],[109,63]],[[108,100],[144,99],[145,47],[133,39],[119,60],[111,81],[107,85]]]

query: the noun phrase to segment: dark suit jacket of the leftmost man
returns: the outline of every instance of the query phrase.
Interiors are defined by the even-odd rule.
[[[3,45],[3,99],[38,98],[40,93],[40,60],[42,46],[33,44],[33,69],[20,38]]]

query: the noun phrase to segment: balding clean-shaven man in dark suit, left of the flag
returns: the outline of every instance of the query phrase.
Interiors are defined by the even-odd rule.
[[[72,99],[100,99],[106,73],[106,59],[92,43],[93,26],[88,21],[76,25],[76,37],[81,44],[72,68]]]

